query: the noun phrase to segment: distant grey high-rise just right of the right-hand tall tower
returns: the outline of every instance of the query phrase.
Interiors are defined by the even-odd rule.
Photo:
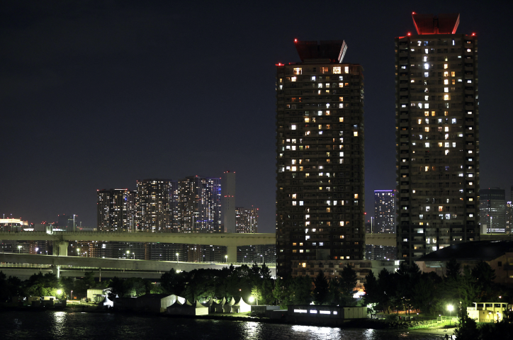
[[[487,232],[506,232],[506,191],[500,188],[479,191],[479,215],[481,226]]]

